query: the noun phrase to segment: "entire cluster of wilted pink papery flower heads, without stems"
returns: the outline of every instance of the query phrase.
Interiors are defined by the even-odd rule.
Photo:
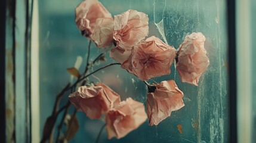
[[[202,33],[187,35],[176,51],[155,36],[145,39],[149,34],[148,24],[147,15],[135,10],[112,17],[97,0],[83,1],[76,8],[76,25],[82,35],[98,47],[112,46],[110,57],[138,79],[144,81],[170,74],[170,67],[176,60],[181,81],[198,85],[199,77],[209,65],[204,48],[205,36]],[[183,92],[174,80],[150,86],[154,88],[147,94],[147,114],[142,103],[131,98],[121,101],[118,94],[102,83],[81,86],[69,99],[90,119],[100,119],[106,113],[109,138],[122,138],[138,128],[147,117],[149,125],[158,125],[172,111],[184,106]]]

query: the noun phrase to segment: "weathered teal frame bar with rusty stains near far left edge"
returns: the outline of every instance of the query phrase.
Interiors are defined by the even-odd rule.
[[[5,142],[15,142],[16,0],[6,1],[5,12]]]

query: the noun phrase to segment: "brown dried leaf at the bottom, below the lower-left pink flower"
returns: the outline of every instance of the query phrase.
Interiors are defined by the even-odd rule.
[[[70,120],[69,126],[67,128],[67,132],[66,132],[67,141],[69,141],[75,136],[76,132],[78,132],[78,129],[79,129],[78,119],[75,116],[73,120],[72,119]]]

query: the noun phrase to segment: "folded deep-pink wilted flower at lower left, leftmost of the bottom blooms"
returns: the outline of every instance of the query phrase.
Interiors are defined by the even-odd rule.
[[[103,83],[81,86],[78,91],[69,95],[69,100],[90,119],[100,119],[103,113],[121,101],[119,95]]]

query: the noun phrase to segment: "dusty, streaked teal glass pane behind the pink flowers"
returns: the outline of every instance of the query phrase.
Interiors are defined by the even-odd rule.
[[[88,39],[81,36],[75,24],[75,7],[81,1],[39,1],[40,23],[40,113],[41,134],[45,120],[50,116],[55,95],[66,86],[70,76],[67,67],[73,67],[77,56],[83,57],[79,69],[84,71]],[[184,37],[192,32],[202,32],[206,37],[205,48],[210,64],[203,73],[199,86],[182,83],[175,70],[171,74],[155,77],[153,80],[174,79],[184,92],[185,107],[174,111],[171,117],[158,126],[148,126],[147,122],[122,139],[107,139],[106,130],[100,142],[227,142],[227,36],[226,3],[220,0],[104,0],[104,7],[112,15],[129,9],[149,15],[149,35],[161,38],[176,49]],[[103,49],[92,44],[90,59],[93,60]],[[107,55],[107,63],[115,63]],[[104,69],[90,80],[109,85],[121,95],[122,100],[132,97],[146,104],[146,86],[135,76],[119,66]],[[153,80],[149,82],[153,83]],[[67,95],[61,104],[65,104]],[[73,108],[73,107],[72,107]],[[70,111],[72,113],[72,111]],[[95,142],[104,120],[90,120],[78,112],[79,131],[71,142]],[[57,120],[58,122],[60,119]],[[182,126],[179,132],[177,125]]]

